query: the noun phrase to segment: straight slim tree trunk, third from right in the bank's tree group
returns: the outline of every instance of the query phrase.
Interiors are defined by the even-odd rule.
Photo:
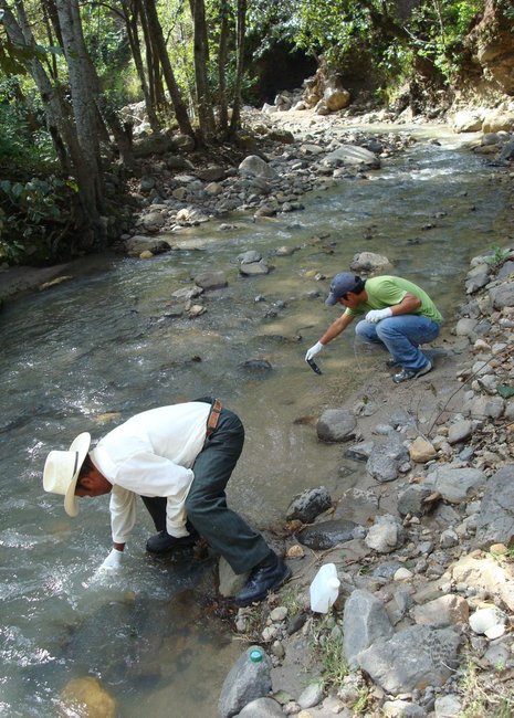
[[[203,0],[189,0],[193,24],[195,82],[197,91],[198,119],[202,138],[209,140],[214,134],[214,112],[207,77],[209,44]]]

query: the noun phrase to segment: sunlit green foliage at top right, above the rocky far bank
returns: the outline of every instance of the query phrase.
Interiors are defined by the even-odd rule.
[[[399,18],[391,0],[300,0],[294,40],[331,67],[366,56],[386,80],[412,72],[416,57],[450,82],[463,60],[463,38],[484,0],[422,0]],[[357,56],[358,56],[357,55]]]

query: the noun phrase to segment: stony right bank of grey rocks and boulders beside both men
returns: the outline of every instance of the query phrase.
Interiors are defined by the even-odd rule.
[[[361,479],[292,501],[293,578],[237,615],[265,657],[243,652],[223,718],[512,715],[513,272],[512,243],[475,257],[451,340],[428,351],[434,370],[392,389],[377,358],[374,384],[319,416],[313,431],[340,442]],[[339,596],[313,613],[327,562]]]

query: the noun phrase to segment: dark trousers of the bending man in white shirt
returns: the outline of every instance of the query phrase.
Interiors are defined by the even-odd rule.
[[[225,487],[243,443],[241,421],[222,409],[216,431],[206,439],[192,466],[195,478],[186,499],[187,526],[192,526],[235,573],[250,571],[270,553],[262,536],[227,506]],[[156,529],[165,529],[166,498],[141,498]]]

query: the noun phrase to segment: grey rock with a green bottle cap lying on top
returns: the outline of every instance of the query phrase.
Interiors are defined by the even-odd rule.
[[[256,663],[250,659],[253,650],[262,654]],[[271,668],[271,659],[260,646],[244,651],[224,679],[218,704],[219,717],[232,718],[252,700],[266,697],[272,687]]]

